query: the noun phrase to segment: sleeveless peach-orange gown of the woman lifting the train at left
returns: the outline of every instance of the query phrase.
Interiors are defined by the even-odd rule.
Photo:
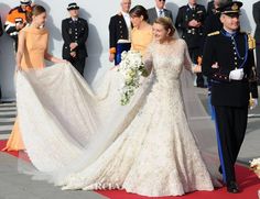
[[[44,54],[47,49],[48,32],[45,29],[24,27],[21,32],[25,34],[24,52],[21,67],[23,70],[40,69],[45,67]],[[3,151],[24,150],[19,118],[15,119],[11,135]]]

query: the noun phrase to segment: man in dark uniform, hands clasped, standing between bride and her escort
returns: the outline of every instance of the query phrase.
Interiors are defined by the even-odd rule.
[[[193,63],[197,64],[203,44],[203,25],[206,18],[204,5],[197,4],[196,0],[188,0],[188,4],[181,7],[177,12],[176,29],[183,32],[182,37],[186,41],[188,53]],[[204,87],[202,73],[197,74],[197,87]]]

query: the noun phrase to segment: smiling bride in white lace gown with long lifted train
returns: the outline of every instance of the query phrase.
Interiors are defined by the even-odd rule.
[[[35,177],[64,190],[151,197],[214,190],[184,111],[180,77],[192,63],[174,32],[171,20],[155,21],[144,56],[150,76],[126,107],[116,70],[95,91],[65,64],[18,74],[21,132]]]

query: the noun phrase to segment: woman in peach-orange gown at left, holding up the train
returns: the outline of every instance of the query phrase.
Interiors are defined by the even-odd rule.
[[[41,69],[45,67],[44,59],[53,63],[66,63],[47,53],[48,31],[44,29],[46,10],[42,5],[34,5],[31,15],[31,24],[19,33],[19,46],[17,53],[17,71]],[[3,151],[25,150],[17,118],[12,133]]]

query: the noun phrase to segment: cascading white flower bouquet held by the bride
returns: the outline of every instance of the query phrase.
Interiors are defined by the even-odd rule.
[[[120,103],[126,106],[134,95],[136,89],[140,87],[140,77],[145,73],[142,55],[137,51],[122,52],[118,71],[122,74],[124,79],[120,90]]]

